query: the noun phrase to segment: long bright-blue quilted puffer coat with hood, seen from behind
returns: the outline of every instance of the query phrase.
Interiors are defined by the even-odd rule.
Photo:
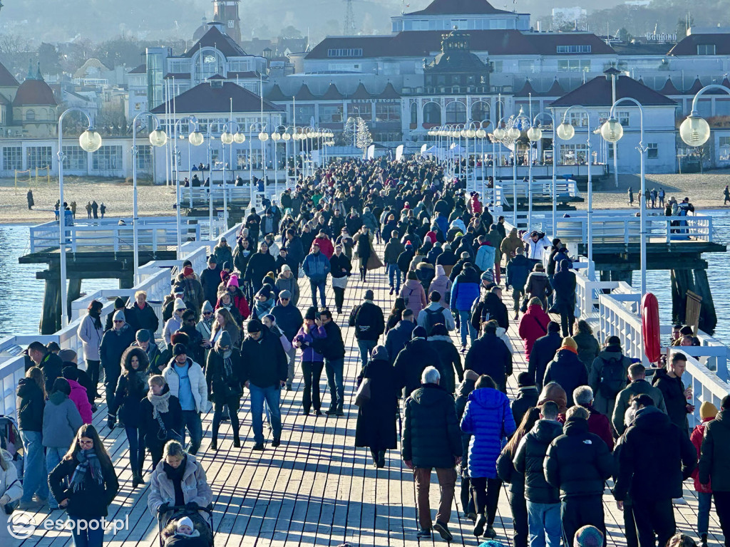
[[[461,430],[472,435],[469,441],[470,478],[497,478],[497,458],[515,429],[507,395],[489,387],[475,389],[469,394]]]

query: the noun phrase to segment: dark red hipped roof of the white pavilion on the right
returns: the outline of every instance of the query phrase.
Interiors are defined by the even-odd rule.
[[[616,79],[616,98],[635,98],[642,106],[674,106],[676,103],[671,98],[666,98],[661,93],[640,84],[628,76],[620,76]],[[550,106],[572,106],[580,104],[583,106],[611,106],[612,90],[611,80],[605,76],[597,76],[591,79],[580,88],[558,98],[550,103]]]

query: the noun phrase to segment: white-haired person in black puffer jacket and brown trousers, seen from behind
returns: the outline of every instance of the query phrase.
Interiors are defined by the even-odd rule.
[[[419,537],[431,537],[429,486],[431,469],[436,468],[441,489],[439,507],[448,510],[445,513],[440,510],[437,512],[434,529],[442,538],[450,540],[447,524],[456,486],[454,465],[461,461],[463,447],[461,430],[456,419],[456,405],[453,397],[439,387],[439,378],[437,369],[426,368],[421,377],[423,384],[404,403],[401,456],[408,468],[413,470],[418,496]]]

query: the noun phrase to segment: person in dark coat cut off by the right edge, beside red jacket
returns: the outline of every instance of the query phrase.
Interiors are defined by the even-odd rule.
[[[698,478],[700,484],[707,487],[712,483],[715,511],[718,513],[725,543],[728,543],[728,538],[730,538],[730,414],[726,414],[726,412],[730,410],[730,395],[723,397],[720,408],[715,419],[707,423],[704,429]],[[705,413],[710,416],[712,411],[710,408],[705,408]],[[702,408],[700,414],[702,415]],[[702,499],[700,505],[702,505]],[[709,503],[707,507],[709,508]]]

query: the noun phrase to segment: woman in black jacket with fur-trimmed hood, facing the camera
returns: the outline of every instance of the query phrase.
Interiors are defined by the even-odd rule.
[[[132,470],[132,488],[145,484],[142,468],[145,465],[145,431],[142,429],[142,399],[147,394],[147,376],[150,360],[142,348],[130,347],[122,354],[123,373],[119,376],[110,416],[119,414],[129,441],[129,465]],[[112,422],[113,424],[113,422]]]

